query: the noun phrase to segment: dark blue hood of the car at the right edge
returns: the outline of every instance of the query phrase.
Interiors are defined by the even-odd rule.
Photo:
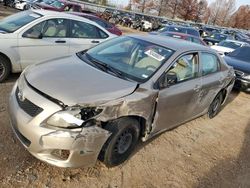
[[[242,61],[240,59],[235,59],[230,56],[225,56],[224,60],[230,66],[232,66],[235,70],[240,70],[247,74],[250,74],[250,62]]]

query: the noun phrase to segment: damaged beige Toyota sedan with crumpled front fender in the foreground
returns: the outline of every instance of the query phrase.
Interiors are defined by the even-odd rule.
[[[213,50],[161,36],[123,36],[27,68],[9,100],[12,128],[49,164],[124,162],[139,139],[216,116],[234,71]]]

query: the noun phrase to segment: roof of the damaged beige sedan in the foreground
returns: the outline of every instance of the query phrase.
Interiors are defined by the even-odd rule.
[[[206,46],[202,46],[196,43],[192,43],[192,42],[188,42],[185,40],[179,40],[179,39],[175,39],[172,37],[167,37],[167,36],[160,36],[160,35],[127,35],[136,39],[140,39],[140,40],[144,40],[150,43],[154,43],[175,51],[191,51],[191,50],[195,50],[195,51],[210,51],[210,52],[214,52],[214,50],[206,47]]]

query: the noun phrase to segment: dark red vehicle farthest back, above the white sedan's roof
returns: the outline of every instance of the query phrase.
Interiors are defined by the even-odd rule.
[[[50,5],[45,4],[45,3],[36,3],[35,8],[53,10],[53,11],[58,11],[58,12],[64,12],[64,11],[82,12],[81,5],[74,3],[74,2],[70,2],[70,1],[64,1],[64,0],[54,1]]]

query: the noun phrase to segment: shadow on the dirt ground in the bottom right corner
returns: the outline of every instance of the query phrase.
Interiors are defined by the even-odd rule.
[[[250,187],[250,120],[244,131],[244,140],[236,158],[227,157],[216,162],[201,179],[197,188]]]

